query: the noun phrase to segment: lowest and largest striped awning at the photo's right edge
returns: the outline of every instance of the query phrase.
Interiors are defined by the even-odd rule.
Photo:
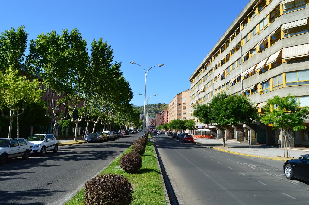
[[[309,43],[282,49],[282,59],[298,58],[307,55],[309,55]]]

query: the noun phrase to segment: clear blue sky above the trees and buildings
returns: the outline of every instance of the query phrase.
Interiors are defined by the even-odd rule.
[[[152,68],[147,76],[148,103],[169,103],[190,88],[189,76],[249,0],[2,1],[0,32],[25,26],[28,41],[51,30],[78,28],[87,40],[102,37],[122,62],[134,92],[131,103],[143,105],[145,73],[134,61]],[[237,2],[235,4],[235,2]]]

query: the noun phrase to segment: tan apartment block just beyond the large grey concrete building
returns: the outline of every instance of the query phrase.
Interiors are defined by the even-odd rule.
[[[173,119],[189,119],[189,101],[191,91],[178,93],[168,105],[168,121]]]

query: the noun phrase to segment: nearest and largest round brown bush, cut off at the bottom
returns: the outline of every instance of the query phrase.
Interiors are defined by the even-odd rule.
[[[122,175],[98,175],[85,185],[85,205],[129,205],[132,199],[132,184]]]

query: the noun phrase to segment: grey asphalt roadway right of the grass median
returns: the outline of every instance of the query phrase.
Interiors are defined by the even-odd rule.
[[[180,205],[309,204],[309,183],[286,179],[283,161],[153,137]]]

